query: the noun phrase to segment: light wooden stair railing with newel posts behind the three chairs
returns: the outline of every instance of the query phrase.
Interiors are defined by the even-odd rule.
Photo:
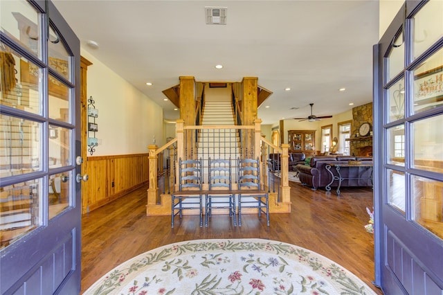
[[[208,165],[208,159],[219,158],[219,157],[231,157],[233,163],[236,159],[232,159],[231,153],[220,150],[212,150],[205,152],[204,149],[209,149],[209,141],[207,141],[207,146],[199,147],[197,142],[199,138],[195,136],[203,136],[204,134],[215,134],[216,141],[214,144],[224,143],[224,134],[231,132],[247,131],[244,132],[244,136],[249,138],[242,138],[240,136],[238,144],[239,150],[237,150],[237,157],[242,159],[246,157],[259,157],[260,159],[260,173],[262,177],[262,184],[266,186],[270,193],[277,193],[277,202],[284,202],[290,204],[290,188],[288,179],[288,148],[289,145],[283,144],[282,147],[277,147],[273,145],[270,141],[266,140],[261,136],[261,122],[262,120],[256,119],[255,125],[184,125],[183,120],[177,120],[177,138],[172,139],[163,147],[157,147],[156,145],[150,145],[148,148],[150,150],[149,156],[149,188],[147,190],[147,206],[155,206],[161,204],[161,195],[170,195],[176,187],[175,184],[178,183],[177,175],[177,161],[178,159],[203,159],[204,165]],[[246,135],[247,134],[247,135]],[[244,137],[243,136],[243,137]],[[213,143],[211,143],[213,144]],[[218,147],[217,147],[218,148]],[[230,145],[226,145],[227,149],[232,148]],[[269,152],[280,152],[281,155],[281,175],[280,179],[275,179],[275,175],[270,175],[269,172]],[[160,156],[160,157],[159,157]],[[169,161],[165,161],[169,159]],[[160,162],[160,163],[159,163]],[[175,166],[174,166],[175,165]],[[160,177],[159,177],[160,176]],[[272,177],[272,178],[270,178]],[[159,190],[159,179],[163,187]],[[163,181],[162,181],[163,179]],[[272,181],[271,181],[272,180]],[[278,184],[275,187],[275,183]],[[166,209],[165,209],[166,210]],[[290,209],[289,209],[290,210]],[[149,211],[149,210],[147,210]],[[272,211],[271,211],[272,213]],[[153,213],[151,212],[150,215]],[[161,215],[159,213],[159,215]]]

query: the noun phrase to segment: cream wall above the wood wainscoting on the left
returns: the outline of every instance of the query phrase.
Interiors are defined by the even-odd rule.
[[[87,97],[98,109],[93,156],[146,153],[154,138],[163,145],[163,109],[91,53],[83,48],[80,53],[93,63],[87,71]]]

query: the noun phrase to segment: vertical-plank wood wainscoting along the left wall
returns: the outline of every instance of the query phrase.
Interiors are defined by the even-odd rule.
[[[82,214],[148,183],[149,154],[87,157],[89,180],[82,183]]]

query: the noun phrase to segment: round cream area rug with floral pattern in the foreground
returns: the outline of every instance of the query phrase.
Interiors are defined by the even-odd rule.
[[[84,294],[375,294],[336,262],[284,242],[190,240],[147,251]]]

